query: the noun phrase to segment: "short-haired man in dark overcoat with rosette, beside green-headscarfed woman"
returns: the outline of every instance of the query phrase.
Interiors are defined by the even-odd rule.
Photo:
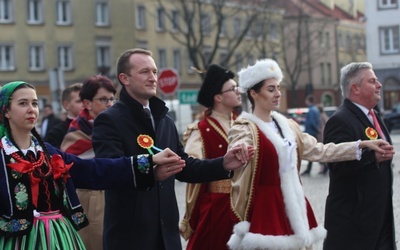
[[[186,161],[186,167],[171,167],[169,171],[176,175],[154,181],[154,187],[148,190],[133,186],[107,190],[103,249],[182,249],[175,179],[209,182],[230,178],[229,170],[246,164],[254,150],[238,144],[217,159],[188,157],[174,121],[167,115],[168,108],[156,97],[157,67],[150,51],[130,49],[122,53],[117,62],[117,77],[122,84],[120,100],[94,122],[95,156],[152,154],[170,148]]]

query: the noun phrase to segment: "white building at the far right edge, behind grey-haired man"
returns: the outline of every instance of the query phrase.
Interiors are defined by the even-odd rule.
[[[398,0],[373,0],[366,5],[368,61],[383,84],[381,109],[400,102],[400,6]]]

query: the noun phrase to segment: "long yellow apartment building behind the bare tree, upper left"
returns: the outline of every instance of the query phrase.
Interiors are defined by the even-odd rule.
[[[90,75],[105,74],[117,82],[120,53],[141,47],[153,52],[160,69],[179,73],[182,89],[198,89],[202,77],[192,66],[204,70],[220,63],[237,71],[280,53],[282,13],[251,7],[251,1],[232,2],[220,10],[226,14],[220,20],[215,6],[204,1],[198,1],[201,12],[184,13],[180,1],[1,0],[0,84],[28,81],[36,86],[41,105],[56,104],[65,85]],[[258,20],[251,20],[249,13],[256,11]],[[235,43],[244,29],[243,43]],[[188,38],[189,31],[193,36]]]

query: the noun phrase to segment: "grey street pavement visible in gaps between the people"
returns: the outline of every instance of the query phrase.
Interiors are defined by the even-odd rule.
[[[391,133],[393,145],[396,150],[396,154],[393,159],[393,207],[394,217],[396,225],[396,240],[397,248],[400,249],[400,130],[393,130]],[[303,161],[302,169],[306,167],[307,162]],[[324,223],[324,212],[325,212],[325,200],[328,195],[329,177],[320,176],[318,172],[320,170],[319,163],[313,164],[313,169],[309,177],[302,177],[304,192],[311,203],[314,210],[317,221],[323,225]],[[180,217],[182,218],[185,212],[185,188],[186,184],[176,181],[176,195],[179,206]],[[186,241],[182,239],[183,249],[186,249]],[[314,245],[313,250],[321,250],[322,242]]]

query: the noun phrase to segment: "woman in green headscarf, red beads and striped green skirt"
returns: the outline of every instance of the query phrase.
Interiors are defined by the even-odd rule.
[[[142,174],[140,156],[84,160],[66,154],[37,133],[38,102],[26,82],[0,90],[0,249],[85,249],[77,230],[88,220],[74,185],[123,188],[139,177],[167,178],[166,168],[184,164],[165,150],[146,156],[149,166],[158,165]]]

